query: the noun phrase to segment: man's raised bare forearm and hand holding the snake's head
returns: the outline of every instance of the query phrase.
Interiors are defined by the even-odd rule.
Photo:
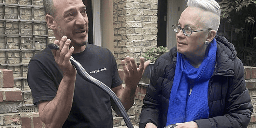
[[[70,39],[63,36],[61,41],[54,43],[61,50],[53,50],[54,58],[61,71],[63,78],[59,84],[57,94],[52,101],[41,101],[38,103],[39,115],[47,128],[61,128],[70,113],[75,87],[76,69],[70,62],[70,56],[74,47],[69,48]]]

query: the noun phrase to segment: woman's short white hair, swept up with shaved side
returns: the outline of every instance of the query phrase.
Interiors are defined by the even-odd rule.
[[[212,28],[216,32],[218,31],[219,23],[221,22],[221,8],[215,0],[188,0],[187,5],[189,7],[200,8],[204,11],[209,11],[216,14],[217,16],[210,15],[208,17],[203,18],[202,22],[205,25],[205,27]]]

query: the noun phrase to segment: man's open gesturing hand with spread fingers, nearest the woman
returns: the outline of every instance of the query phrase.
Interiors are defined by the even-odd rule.
[[[137,84],[150,61],[144,62],[144,58],[141,57],[139,68],[137,68],[137,64],[132,57],[127,56],[125,60],[122,60],[121,62],[125,73],[125,85],[130,89],[136,89]]]

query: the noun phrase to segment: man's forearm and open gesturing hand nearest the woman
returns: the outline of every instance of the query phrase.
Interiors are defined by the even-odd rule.
[[[123,89],[123,86],[119,85],[112,88],[112,90],[118,96],[126,111],[128,111],[134,103],[137,85],[149,63],[150,61],[144,62],[144,58],[142,57],[140,58],[140,66],[137,68],[137,64],[135,63],[134,58],[127,56],[125,60],[122,60],[122,66],[125,73],[125,87]],[[113,109],[118,115],[120,115],[115,106]]]

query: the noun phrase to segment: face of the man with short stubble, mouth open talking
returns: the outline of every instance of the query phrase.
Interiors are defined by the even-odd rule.
[[[88,17],[82,0],[54,0],[56,9],[56,38],[66,35],[71,46],[83,46],[88,42]]]

